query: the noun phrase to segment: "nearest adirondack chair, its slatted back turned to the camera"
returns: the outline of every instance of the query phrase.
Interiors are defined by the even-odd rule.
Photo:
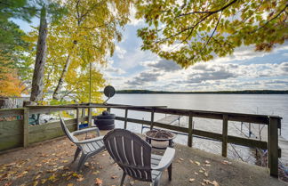
[[[104,136],[103,141],[110,156],[123,169],[121,186],[126,174],[139,181],[153,182],[153,185],[157,186],[166,168],[169,180],[172,179],[174,149],[167,148],[164,156],[151,154],[152,148],[148,142],[124,129],[110,131]]]

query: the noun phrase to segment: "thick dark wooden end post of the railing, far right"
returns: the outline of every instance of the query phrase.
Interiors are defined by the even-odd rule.
[[[268,125],[268,165],[270,175],[278,177],[278,125],[279,117],[269,117]]]

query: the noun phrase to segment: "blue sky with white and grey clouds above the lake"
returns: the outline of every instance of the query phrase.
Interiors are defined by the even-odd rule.
[[[14,20],[28,32],[28,23]],[[288,43],[278,45],[270,53],[254,52],[253,46],[241,46],[230,56],[198,62],[181,69],[174,61],[159,58],[155,53],[141,51],[137,29],[143,20],[131,21],[122,30],[123,39],[116,43],[116,52],[100,70],[108,85],[116,90],[142,89],[152,91],[238,91],[288,90]]]

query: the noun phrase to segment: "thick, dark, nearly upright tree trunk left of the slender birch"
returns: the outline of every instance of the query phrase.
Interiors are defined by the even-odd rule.
[[[47,38],[46,8],[42,7],[30,101],[41,101],[43,98],[44,67],[46,62],[46,49],[47,49],[46,38]]]

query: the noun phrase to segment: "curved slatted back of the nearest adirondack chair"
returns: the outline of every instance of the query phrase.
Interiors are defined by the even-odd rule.
[[[151,146],[138,135],[124,129],[114,129],[104,136],[111,157],[125,174],[136,180],[152,182]]]

